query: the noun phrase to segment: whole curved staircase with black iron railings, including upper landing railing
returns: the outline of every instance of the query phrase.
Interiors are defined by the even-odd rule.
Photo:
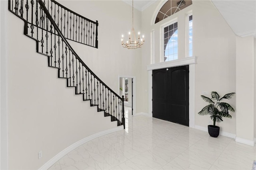
[[[8,10],[24,21],[24,35],[36,41],[36,52],[48,58],[58,78],[75,88],[117,125],[124,123],[124,96],[118,96],[78,57],[68,40],[98,48],[98,21],[89,20],[54,0],[8,0]]]

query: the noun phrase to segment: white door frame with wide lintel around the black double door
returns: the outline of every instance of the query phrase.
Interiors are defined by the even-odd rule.
[[[189,127],[195,128],[195,64],[196,57],[151,64],[148,66],[148,111],[152,117],[152,70],[189,65]]]

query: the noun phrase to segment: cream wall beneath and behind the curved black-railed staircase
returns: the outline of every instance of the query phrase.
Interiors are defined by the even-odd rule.
[[[123,12],[131,11],[129,5],[120,1],[60,3],[99,21],[99,49],[70,42],[98,77],[116,92],[118,74],[140,81],[140,49],[124,49],[120,42],[121,35],[131,29],[127,22],[131,15]],[[135,14],[140,16],[136,10]],[[74,88],[66,87],[66,80],[57,78],[57,70],[47,66],[47,58],[35,52],[36,43],[23,35],[23,24],[8,12],[8,160],[9,169],[38,169],[66,147],[117,127],[117,122],[83,102]],[[140,98],[140,90],[137,92]],[[38,159],[40,150],[42,158]]]

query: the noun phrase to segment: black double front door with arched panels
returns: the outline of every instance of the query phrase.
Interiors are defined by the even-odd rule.
[[[188,65],[153,70],[152,76],[153,117],[188,126]]]

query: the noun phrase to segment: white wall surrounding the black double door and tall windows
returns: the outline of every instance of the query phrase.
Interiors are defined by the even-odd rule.
[[[178,19],[178,58],[186,57],[186,16],[193,13],[193,55],[198,57],[196,64],[195,80],[195,123],[196,126],[207,127],[209,116],[199,116],[197,113],[206,106],[200,95],[202,91],[218,92],[221,96],[226,93],[236,92],[236,36],[226,21],[222,18],[210,0],[196,0],[191,6],[168,17],[156,24],[152,18],[160,9],[163,1],[156,1],[142,12],[142,29],[146,37],[155,31],[155,63],[159,63],[162,51],[161,27],[166,23]],[[154,13],[154,12],[155,13]],[[145,67],[150,64],[150,43],[145,43],[142,49],[142,83],[146,86],[147,75]],[[146,89],[145,91],[147,91]],[[208,95],[209,96],[209,95]],[[147,94],[144,94],[144,103],[148,103]],[[146,101],[147,100],[147,101]],[[227,101],[236,109],[236,97]],[[146,108],[144,109],[146,111]],[[231,113],[232,119],[224,118],[218,123],[221,131],[236,134],[236,113]]]

